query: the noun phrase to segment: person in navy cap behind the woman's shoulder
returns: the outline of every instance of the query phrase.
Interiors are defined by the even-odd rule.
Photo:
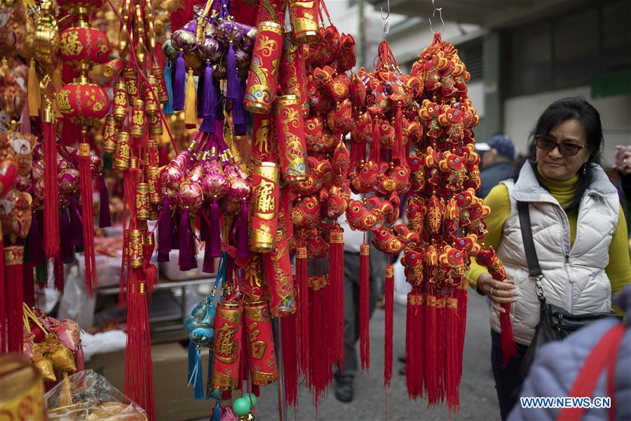
[[[480,192],[477,196],[484,199],[491,189],[502,180],[515,175],[515,145],[505,135],[494,135],[487,142],[489,148],[481,157]]]

